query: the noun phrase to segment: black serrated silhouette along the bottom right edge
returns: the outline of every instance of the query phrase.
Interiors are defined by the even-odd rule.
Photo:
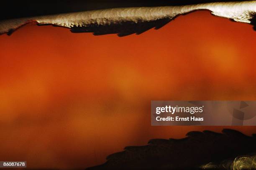
[[[124,151],[109,155],[104,164],[87,170],[196,170],[209,162],[220,165],[255,152],[254,134],[247,136],[233,129],[223,129],[222,133],[193,131],[183,139],[152,139],[148,145],[125,147]]]

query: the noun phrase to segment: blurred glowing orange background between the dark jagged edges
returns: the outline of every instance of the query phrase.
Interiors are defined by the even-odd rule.
[[[2,35],[0,160],[84,168],[151,138],[220,132],[151,127],[151,100],[256,100],[255,44],[252,25],[208,11],[123,38],[31,24]]]

